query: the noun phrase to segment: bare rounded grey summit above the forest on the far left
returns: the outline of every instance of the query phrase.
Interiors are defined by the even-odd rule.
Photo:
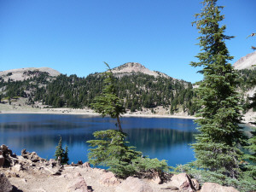
[[[58,71],[49,67],[26,67],[26,68],[18,68],[18,69],[11,69],[7,71],[0,72],[0,77],[4,81],[8,81],[11,79],[13,81],[22,81],[34,77],[38,77],[40,73],[48,74],[51,77],[56,77],[60,75]]]

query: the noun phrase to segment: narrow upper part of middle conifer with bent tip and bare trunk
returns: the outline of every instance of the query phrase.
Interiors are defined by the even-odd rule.
[[[125,108],[123,102],[117,96],[113,73],[108,63],[105,62],[105,64],[108,67],[108,72],[105,73],[106,79],[104,79],[105,86],[102,90],[102,96],[97,96],[95,103],[91,106],[97,113],[101,113],[103,117],[109,115],[111,118],[117,119],[119,131],[122,131],[119,117],[122,113],[125,113]]]

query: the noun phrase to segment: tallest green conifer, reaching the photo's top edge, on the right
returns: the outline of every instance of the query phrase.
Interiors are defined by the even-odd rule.
[[[193,67],[203,67],[204,79],[196,90],[201,109],[195,122],[201,134],[196,136],[195,166],[218,172],[228,177],[237,177],[241,151],[237,148],[242,142],[239,127],[241,110],[240,98],[236,93],[236,74],[228,61],[232,60],[225,45],[230,36],[224,35],[226,26],[220,26],[224,15],[220,15],[223,6],[218,0],[204,0],[200,14],[196,14],[197,29],[201,33],[199,45],[201,53],[196,55],[198,62]]]

